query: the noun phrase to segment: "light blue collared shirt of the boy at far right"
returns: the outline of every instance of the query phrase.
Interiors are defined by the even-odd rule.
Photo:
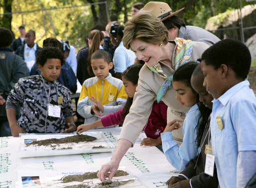
[[[256,97],[249,85],[243,81],[213,100],[212,148],[220,187],[236,188],[238,152],[256,150]]]

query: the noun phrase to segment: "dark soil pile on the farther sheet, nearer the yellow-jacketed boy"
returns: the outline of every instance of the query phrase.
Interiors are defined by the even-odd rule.
[[[38,146],[49,146],[50,144],[67,144],[67,143],[78,143],[78,142],[91,142],[97,140],[97,138],[93,136],[88,136],[88,135],[74,135],[74,136],[68,136],[65,138],[51,138],[51,139],[46,139],[46,140],[38,140],[35,142],[27,143],[26,146],[30,145],[38,145]]]

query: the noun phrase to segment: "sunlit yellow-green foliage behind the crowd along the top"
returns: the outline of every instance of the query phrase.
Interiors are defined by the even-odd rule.
[[[8,0],[7,0],[8,1]],[[12,1],[12,12],[28,11],[41,8],[65,7],[72,5],[89,4],[89,0],[10,0]],[[91,0],[92,1],[92,0]],[[149,0],[140,0],[139,2],[147,3]],[[171,4],[172,9],[178,10],[183,7],[189,0],[162,0]],[[213,0],[196,0],[183,15],[187,25],[195,25],[199,27],[205,26],[207,19],[213,16],[212,3]],[[3,2],[0,0],[0,13],[3,13]],[[94,0],[93,2],[98,2]],[[119,21],[124,24],[125,5],[128,14],[131,12],[131,6],[137,0],[108,0],[109,15],[117,14]],[[225,12],[228,9],[238,8],[239,0],[214,0],[215,10],[218,13]],[[243,6],[252,4],[242,0]],[[98,12],[98,5],[95,5]],[[99,14],[99,12],[98,12]],[[128,15],[128,19],[130,15]],[[54,31],[58,40],[68,39],[73,46],[85,45],[84,37],[93,27],[94,20],[91,6],[80,6],[73,8],[63,8],[44,11],[45,28],[42,11],[29,13],[12,14],[11,28],[15,37],[19,36],[18,26],[23,24],[26,30],[33,29],[36,31],[36,42],[42,46],[42,41],[46,37],[54,37]],[[220,21],[223,17],[220,16]],[[51,21],[52,25],[51,25]],[[0,22],[1,24],[1,22]],[[45,32],[46,30],[46,32]]]

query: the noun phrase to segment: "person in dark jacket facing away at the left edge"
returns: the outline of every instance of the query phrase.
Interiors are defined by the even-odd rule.
[[[7,96],[20,78],[29,76],[26,63],[12,53],[12,40],[10,30],[0,27],[0,137],[11,136],[5,110]]]

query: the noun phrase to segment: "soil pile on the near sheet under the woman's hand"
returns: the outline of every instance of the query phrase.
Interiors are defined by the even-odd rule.
[[[92,179],[97,179],[97,174],[99,171],[97,172],[88,172],[88,173],[84,173],[81,175],[70,175],[70,176],[65,176],[61,179],[62,183],[69,183],[69,182],[83,182],[84,180],[92,180]],[[120,177],[120,176],[127,176],[129,175],[127,172],[125,171],[120,171],[118,170],[116,172],[116,174],[114,175],[114,177]],[[106,175],[106,177],[109,177],[109,174]]]

